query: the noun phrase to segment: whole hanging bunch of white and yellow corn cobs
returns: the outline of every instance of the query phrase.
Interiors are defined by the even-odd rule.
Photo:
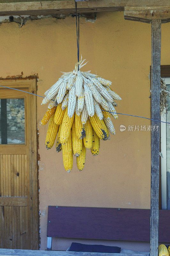
[[[63,73],[59,80],[45,93],[41,104],[48,103],[48,109],[41,120],[48,120],[46,148],[53,146],[56,139],[56,151],[63,150],[63,164],[67,172],[73,166],[73,154],[77,158],[77,167],[82,171],[85,165],[86,149],[92,155],[99,154],[100,139],[110,140],[109,132],[115,134],[111,116],[118,118],[115,100],[120,96],[111,90],[112,82],[82,72],[85,60],[80,60],[72,72]]]

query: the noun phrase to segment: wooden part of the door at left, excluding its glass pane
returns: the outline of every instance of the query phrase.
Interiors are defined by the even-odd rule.
[[[6,82],[4,86],[36,91],[35,81],[15,81],[17,86],[11,81]],[[35,250],[39,246],[35,179],[36,97],[12,89],[0,89],[0,99],[8,98],[25,99],[25,144],[0,144],[0,248]]]

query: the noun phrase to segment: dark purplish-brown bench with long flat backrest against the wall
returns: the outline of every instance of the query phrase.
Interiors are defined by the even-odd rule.
[[[159,242],[170,243],[170,210],[159,210]],[[47,250],[52,237],[150,241],[150,210],[48,206]]]

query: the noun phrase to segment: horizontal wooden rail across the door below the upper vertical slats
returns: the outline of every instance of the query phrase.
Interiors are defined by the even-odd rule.
[[[26,206],[27,197],[0,196],[0,206]]]

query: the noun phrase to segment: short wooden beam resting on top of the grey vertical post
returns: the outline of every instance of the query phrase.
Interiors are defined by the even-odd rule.
[[[170,21],[170,6],[154,6],[154,7],[124,7],[125,20],[133,20],[151,23],[152,20],[161,20],[162,23]]]

